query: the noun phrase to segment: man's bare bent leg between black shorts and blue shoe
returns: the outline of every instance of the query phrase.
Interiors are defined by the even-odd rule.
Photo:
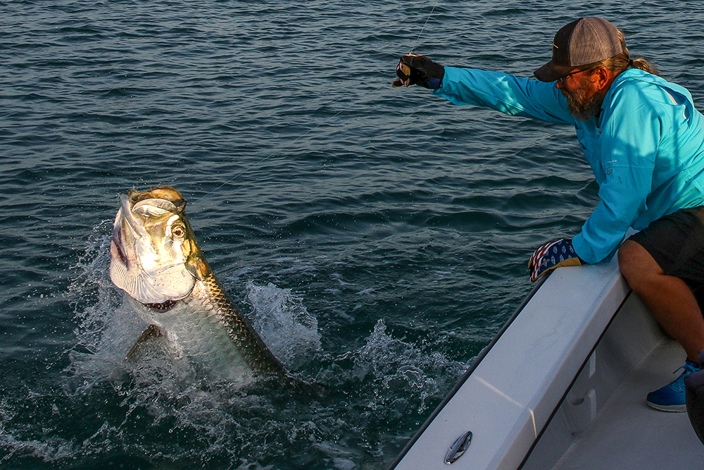
[[[687,359],[698,362],[704,350],[704,318],[692,291],[680,278],[667,276],[639,243],[626,240],[618,252],[621,273],[648,311],[684,348]]]

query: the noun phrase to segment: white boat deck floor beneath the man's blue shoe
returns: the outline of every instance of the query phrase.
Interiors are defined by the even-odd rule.
[[[662,340],[631,371],[553,470],[704,469],[704,445],[686,413],[660,412],[645,397],[677,375],[684,352]],[[680,372],[678,371],[677,374]]]

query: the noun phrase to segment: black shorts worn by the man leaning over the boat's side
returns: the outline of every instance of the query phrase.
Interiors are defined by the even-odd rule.
[[[665,274],[694,292],[704,290],[704,206],[658,218],[629,240],[645,248]]]

